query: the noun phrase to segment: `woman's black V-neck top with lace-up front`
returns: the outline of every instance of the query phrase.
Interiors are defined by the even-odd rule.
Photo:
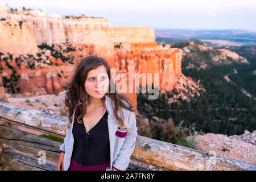
[[[77,112],[77,116],[79,115],[80,109]],[[83,119],[81,118],[79,121],[82,123],[75,121],[73,125],[72,158],[82,166],[98,166],[108,163],[110,158],[108,111],[90,129],[89,133],[86,133]]]

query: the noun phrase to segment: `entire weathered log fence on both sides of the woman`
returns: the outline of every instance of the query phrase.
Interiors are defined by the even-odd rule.
[[[65,137],[67,118],[58,115],[0,102],[0,120]],[[6,166],[15,170],[57,169],[61,142],[0,125],[0,143],[11,146],[0,154],[0,162]],[[45,164],[40,163],[42,154]],[[142,136],[137,137],[131,159],[163,170],[256,170],[254,164]],[[147,169],[130,163],[127,170]]]

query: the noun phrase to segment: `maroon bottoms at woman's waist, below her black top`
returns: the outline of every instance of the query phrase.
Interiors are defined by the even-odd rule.
[[[68,171],[106,171],[106,168],[108,166],[109,162],[98,166],[82,166],[81,164],[77,163],[73,158],[71,158],[71,163]]]

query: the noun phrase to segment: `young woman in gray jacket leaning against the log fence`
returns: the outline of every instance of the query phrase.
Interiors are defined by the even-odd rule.
[[[67,132],[60,146],[59,171],[126,170],[135,147],[135,108],[125,94],[110,92],[110,67],[98,56],[77,65],[68,91]]]

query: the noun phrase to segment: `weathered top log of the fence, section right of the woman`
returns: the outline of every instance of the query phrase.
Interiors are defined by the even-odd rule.
[[[164,170],[256,170],[254,164],[214,156],[176,144],[137,136],[132,159],[162,168]]]

